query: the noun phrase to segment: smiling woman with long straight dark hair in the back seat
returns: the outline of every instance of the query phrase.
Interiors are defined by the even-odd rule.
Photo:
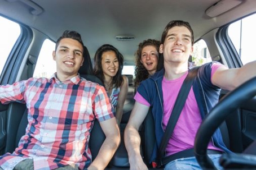
[[[119,125],[128,92],[128,79],[122,75],[123,56],[113,45],[104,44],[96,51],[94,63],[93,72],[104,83]]]

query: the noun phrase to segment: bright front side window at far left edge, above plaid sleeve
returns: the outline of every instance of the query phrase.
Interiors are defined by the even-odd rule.
[[[1,75],[11,49],[20,36],[20,25],[2,16],[0,16],[0,25]]]

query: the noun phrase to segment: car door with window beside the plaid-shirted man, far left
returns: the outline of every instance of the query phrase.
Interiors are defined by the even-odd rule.
[[[27,61],[25,56],[32,42],[32,30],[2,16],[0,25],[0,85],[13,84],[27,79],[30,74],[29,59]],[[21,111],[20,108],[24,108],[24,105],[0,103],[0,155],[14,151],[17,127],[22,117],[17,113]]]

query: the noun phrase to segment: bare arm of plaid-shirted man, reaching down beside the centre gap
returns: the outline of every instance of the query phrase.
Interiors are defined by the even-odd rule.
[[[100,122],[106,139],[102,144],[97,157],[88,167],[90,169],[104,169],[113,157],[115,151],[120,144],[120,131],[116,122],[116,118]]]

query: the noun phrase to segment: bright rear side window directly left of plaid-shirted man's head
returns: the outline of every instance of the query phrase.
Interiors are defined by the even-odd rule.
[[[56,72],[56,62],[52,58],[52,52],[54,50],[55,43],[46,39],[40,50],[33,77],[50,78]]]

